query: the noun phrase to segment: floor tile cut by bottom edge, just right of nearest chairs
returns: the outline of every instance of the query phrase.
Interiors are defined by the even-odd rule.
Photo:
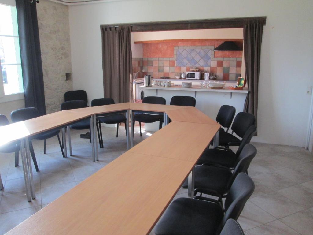
[[[288,227],[279,220],[269,222],[260,227],[245,232],[247,235],[299,235],[298,232]]]

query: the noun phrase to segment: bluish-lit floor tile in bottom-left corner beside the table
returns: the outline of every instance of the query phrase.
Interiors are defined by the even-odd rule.
[[[40,209],[41,206],[34,206],[27,209],[0,214],[0,234],[8,232]]]

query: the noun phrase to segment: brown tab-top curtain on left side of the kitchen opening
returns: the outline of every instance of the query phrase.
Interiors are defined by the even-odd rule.
[[[131,27],[102,27],[101,34],[104,97],[132,102]]]

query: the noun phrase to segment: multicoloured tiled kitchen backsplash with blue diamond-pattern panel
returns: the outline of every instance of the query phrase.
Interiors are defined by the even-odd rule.
[[[188,55],[194,55],[193,58],[187,58],[190,61],[194,59],[196,62],[203,61],[206,65],[210,65],[207,67],[198,66],[200,64],[196,64],[196,67],[199,68],[201,72],[209,72],[217,75],[218,80],[224,81],[236,81],[238,77],[241,76],[241,62],[242,57],[214,57],[214,46],[175,46],[174,47],[174,58],[133,58],[133,74],[137,71],[141,71],[141,75],[137,77],[143,77],[145,75],[151,75],[154,78],[160,77],[170,77],[175,78],[182,72],[190,71],[193,69],[193,66],[177,66],[182,65],[181,62],[177,60],[177,53],[180,59],[179,54],[182,54],[181,49],[187,49]],[[189,50],[188,50],[189,49]],[[208,58],[208,53],[203,54],[202,58],[198,58],[201,56],[201,53],[192,54],[190,53],[192,50],[190,49],[203,49],[203,51],[210,51],[211,56]],[[185,53],[184,55],[186,55]],[[184,56],[185,58],[187,57]],[[205,58],[204,58],[205,57]],[[201,60],[203,59],[203,61]],[[188,61],[188,62],[190,62]],[[185,61],[186,63],[186,61]],[[194,63],[194,61],[193,61]],[[188,63],[186,64],[188,65]],[[191,64],[190,64],[191,65]],[[144,70],[145,72],[142,72]]]

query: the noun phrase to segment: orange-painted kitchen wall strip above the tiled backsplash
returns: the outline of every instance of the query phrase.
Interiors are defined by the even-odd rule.
[[[222,44],[221,41],[182,41],[160,42],[142,44],[142,57],[174,57],[174,46],[214,46]],[[237,42],[242,47],[242,42]],[[242,57],[242,51],[215,51],[214,57]]]

